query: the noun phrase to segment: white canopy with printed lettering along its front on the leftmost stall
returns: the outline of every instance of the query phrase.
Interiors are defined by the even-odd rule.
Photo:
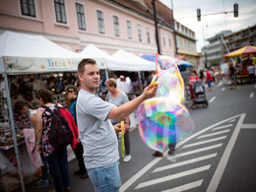
[[[0,57],[0,71],[13,75],[76,71],[81,60],[79,54],[42,35],[18,32],[4,32],[0,35]]]

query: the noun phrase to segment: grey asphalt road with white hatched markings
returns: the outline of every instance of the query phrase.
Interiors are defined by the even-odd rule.
[[[229,90],[220,84],[207,99],[207,108],[187,105],[196,128],[171,160],[152,157],[138,129],[131,132],[132,160],[120,160],[120,191],[256,191],[256,86]],[[72,191],[94,191],[89,178],[74,175],[76,169],[77,161],[70,161]],[[33,184],[26,190],[34,191]],[[36,191],[50,189],[52,184]]]

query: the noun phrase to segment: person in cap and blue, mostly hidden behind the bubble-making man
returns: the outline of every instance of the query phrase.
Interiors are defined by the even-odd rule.
[[[71,100],[71,104],[69,107],[69,112],[72,114],[73,119],[77,125],[77,112],[76,112],[76,104],[77,104],[77,88],[76,86],[73,85],[68,85],[65,89],[65,96]],[[79,165],[79,169],[76,170],[74,173],[77,175],[81,175],[81,178],[87,178],[88,177],[88,172],[85,166],[85,162],[84,162],[84,158],[83,158],[83,146],[81,144],[81,142],[78,142],[78,144],[72,148],[74,151],[74,154],[78,160],[78,165]]]

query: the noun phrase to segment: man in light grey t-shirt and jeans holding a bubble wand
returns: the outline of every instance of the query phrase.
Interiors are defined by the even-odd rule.
[[[84,160],[96,191],[119,191],[121,179],[118,169],[118,142],[109,119],[122,119],[132,113],[147,98],[156,96],[157,87],[150,85],[141,96],[115,106],[96,96],[99,70],[94,59],[83,59],[78,66],[81,91],[77,99],[79,137],[84,148]]]

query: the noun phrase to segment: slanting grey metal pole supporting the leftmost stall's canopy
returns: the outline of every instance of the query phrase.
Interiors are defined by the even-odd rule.
[[[25,186],[24,186],[24,180],[23,180],[23,174],[22,174],[22,166],[21,166],[21,161],[20,161],[20,156],[19,156],[19,150],[17,147],[16,132],[15,132],[15,127],[14,127],[14,116],[13,116],[7,74],[4,74],[4,81],[5,81],[5,91],[6,91],[6,96],[7,96],[8,108],[9,108],[9,116],[10,116],[10,120],[11,120],[11,128],[12,128],[12,135],[13,135],[13,141],[14,141],[15,155],[16,155],[16,159],[17,159],[17,163],[18,163],[18,169],[19,169],[20,180],[21,180],[21,184],[22,184],[22,190],[23,190],[23,192],[25,192]]]

